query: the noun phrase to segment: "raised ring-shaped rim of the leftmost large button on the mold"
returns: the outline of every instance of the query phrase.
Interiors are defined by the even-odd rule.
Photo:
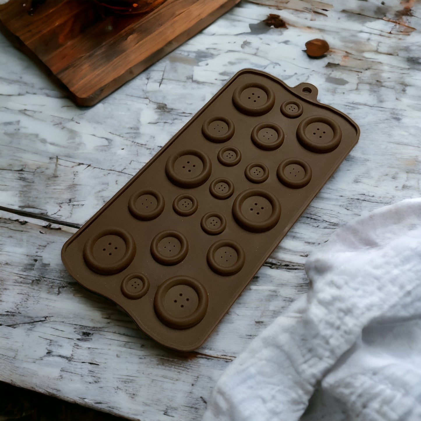
[[[105,237],[105,235],[117,235],[126,243],[126,253],[124,253],[122,258],[112,264],[100,263],[94,257],[94,245],[100,238]],[[129,232],[121,228],[104,229],[86,241],[83,247],[83,260],[88,268],[102,275],[114,275],[123,271],[131,264],[135,255],[136,243],[134,242],[134,238]]]

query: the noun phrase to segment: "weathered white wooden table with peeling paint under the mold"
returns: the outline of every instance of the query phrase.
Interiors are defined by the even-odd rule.
[[[0,380],[142,421],[198,420],[222,371],[306,293],[308,253],[362,212],[420,195],[421,5],[332,3],[243,1],[88,109],[0,39]],[[268,13],[288,29],[262,24]],[[316,37],[331,51],[312,60],[302,50]],[[60,250],[244,67],[313,83],[361,137],[204,346],[177,354],[81,288]]]

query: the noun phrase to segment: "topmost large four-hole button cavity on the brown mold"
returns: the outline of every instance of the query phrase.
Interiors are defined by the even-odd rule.
[[[274,106],[275,94],[263,83],[244,83],[234,91],[233,104],[243,114],[263,115]]]

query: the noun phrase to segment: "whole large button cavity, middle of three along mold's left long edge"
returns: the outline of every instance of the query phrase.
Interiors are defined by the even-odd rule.
[[[212,163],[201,151],[187,149],[171,155],[165,165],[167,177],[178,187],[201,186],[212,173]]]

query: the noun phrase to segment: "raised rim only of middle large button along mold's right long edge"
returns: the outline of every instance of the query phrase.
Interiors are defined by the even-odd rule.
[[[255,222],[250,221],[241,213],[241,206],[244,203],[244,200],[252,196],[262,196],[271,203],[272,213],[271,216],[265,221]],[[260,189],[248,189],[241,192],[234,200],[232,207],[233,217],[236,220],[237,224],[249,232],[265,232],[272,229],[278,222],[281,217],[281,204],[274,195],[265,190]]]

